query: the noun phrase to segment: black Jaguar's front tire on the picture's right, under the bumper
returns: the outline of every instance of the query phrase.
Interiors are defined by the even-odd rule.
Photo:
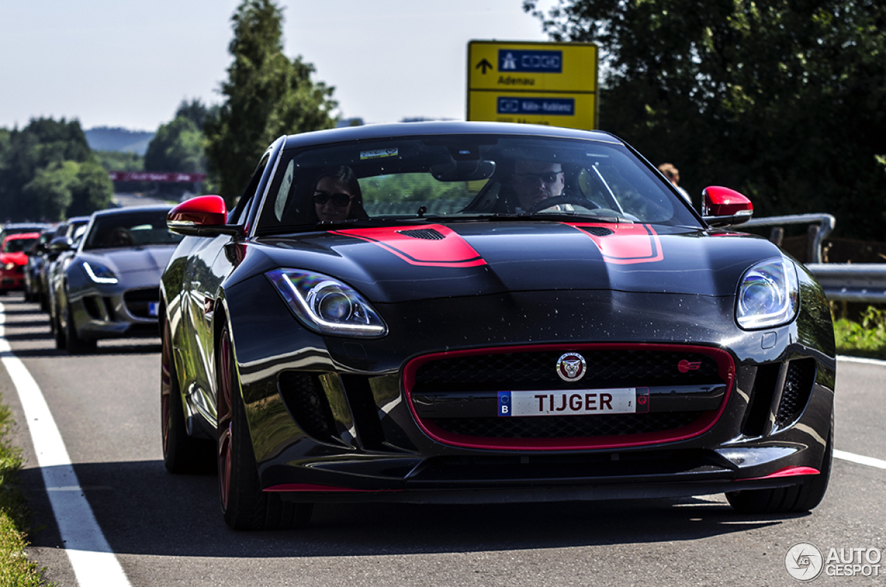
[[[750,489],[726,494],[729,505],[739,513],[808,512],[821,503],[828,491],[831,465],[834,461],[834,425],[828,432],[821,470],[803,482],[776,489]]]

